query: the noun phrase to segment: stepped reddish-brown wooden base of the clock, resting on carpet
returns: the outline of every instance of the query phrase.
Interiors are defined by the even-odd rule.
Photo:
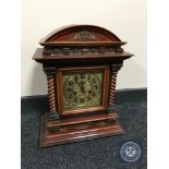
[[[95,117],[96,119],[96,117]],[[80,142],[117,135],[124,133],[124,130],[116,120],[107,114],[97,116],[95,121],[85,121],[79,123],[75,121],[60,120],[56,124],[49,124],[47,117],[41,118],[40,145],[39,147],[49,147],[59,144]]]

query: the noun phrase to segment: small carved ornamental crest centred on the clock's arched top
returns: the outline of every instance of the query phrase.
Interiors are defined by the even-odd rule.
[[[80,33],[72,35],[71,40],[98,40],[98,37],[87,31],[81,31]]]

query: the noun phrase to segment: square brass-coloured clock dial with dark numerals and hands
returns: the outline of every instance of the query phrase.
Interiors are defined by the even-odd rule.
[[[62,80],[65,111],[101,105],[104,71],[72,71]]]

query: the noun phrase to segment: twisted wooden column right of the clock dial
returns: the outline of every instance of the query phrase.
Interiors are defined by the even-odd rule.
[[[109,88],[108,112],[114,110],[117,74],[121,67],[122,67],[122,64],[111,64],[110,65],[110,88]]]

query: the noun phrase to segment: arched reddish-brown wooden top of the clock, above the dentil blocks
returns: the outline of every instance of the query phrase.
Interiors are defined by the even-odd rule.
[[[40,40],[43,46],[125,44],[110,31],[95,25],[71,25],[51,32]]]

